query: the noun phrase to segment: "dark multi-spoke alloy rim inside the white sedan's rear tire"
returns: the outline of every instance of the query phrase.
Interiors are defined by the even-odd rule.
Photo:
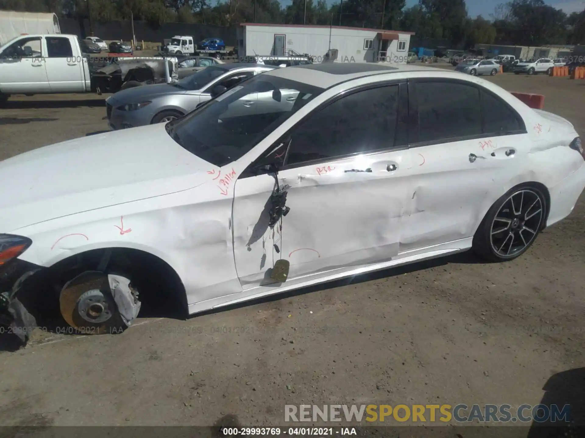
[[[519,190],[508,197],[491,223],[490,242],[495,254],[513,258],[528,248],[541,229],[543,213],[543,201],[534,190]]]

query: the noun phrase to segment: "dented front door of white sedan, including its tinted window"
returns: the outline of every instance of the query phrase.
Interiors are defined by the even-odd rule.
[[[277,176],[238,179],[234,254],[244,290],[281,286],[270,279],[279,259],[290,262],[289,285],[398,255],[411,204],[399,117],[406,103],[394,84],[332,99],[268,149],[285,154]],[[270,228],[277,185],[287,190],[290,212]]]

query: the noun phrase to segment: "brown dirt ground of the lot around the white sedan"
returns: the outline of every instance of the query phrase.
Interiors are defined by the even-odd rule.
[[[487,79],[545,95],[585,135],[585,81]],[[13,97],[0,159],[106,130],[105,97]],[[463,253],[186,321],[139,318],[122,335],[37,331],[0,352],[0,425],[269,426],[285,404],[541,399],[583,419],[584,218],[581,196],[508,263]]]

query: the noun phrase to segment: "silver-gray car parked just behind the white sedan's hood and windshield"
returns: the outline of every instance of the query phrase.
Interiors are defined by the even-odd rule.
[[[106,99],[111,130],[178,119],[226,89],[277,67],[259,64],[211,65],[174,84],[128,88]]]

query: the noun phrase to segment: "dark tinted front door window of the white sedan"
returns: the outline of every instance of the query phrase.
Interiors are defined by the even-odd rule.
[[[391,148],[397,114],[398,85],[338,99],[293,131],[287,164]]]

